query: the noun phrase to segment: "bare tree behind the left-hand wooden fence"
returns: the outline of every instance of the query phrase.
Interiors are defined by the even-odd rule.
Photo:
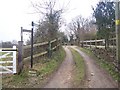
[[[39,42],[40,38],[45,40],[52,40],[57,38],[58,30],[61,26],[61,15],[64,13],[64,9],[56,9],[56,0],[44,0],[41,3],[33,4],[36,13],[43,15],[43,20],[39,23],[39,27],[34,34],[34,39]]]

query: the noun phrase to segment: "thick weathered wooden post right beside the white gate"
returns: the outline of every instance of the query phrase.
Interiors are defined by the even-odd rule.
[[[18,74],[23,69],[23,41],[18,41]]]

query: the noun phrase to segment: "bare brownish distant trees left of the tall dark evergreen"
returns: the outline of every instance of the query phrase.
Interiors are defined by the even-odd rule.
[[[95,39],[96,26],[93,19],[85,19],[79,15],[69,23],[68,29],[73,34],[70,37],[75,36],[78,45],[80,41]]]

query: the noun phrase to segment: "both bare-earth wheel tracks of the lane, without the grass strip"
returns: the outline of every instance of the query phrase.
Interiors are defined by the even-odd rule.
[[[68,47],[78,51],[85,61],[87,75],[85,86],[88,88],[117,88],[117,83],[112,77],[101,69],[91,57],[77,49],[76,46],[63,47],[66,51],[66,58],[45,88],[71,88],[74,61]]]

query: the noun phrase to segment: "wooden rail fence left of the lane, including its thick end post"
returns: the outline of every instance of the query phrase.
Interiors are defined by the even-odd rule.
[[[37,43],[33,45],[33,63],[40,60],[41,56],[51,57],[51,54],[54,50],[58,49],[61,45],[61,39],[54,39],[49,42]],[[20,48],[19,48],[20,47]],[[23,46],[19,45],[18,47],[18,72],[21,72],[23,65],[29,67],[31,59],[31,45]],[[22,51],[20,51],[22,50]]]

